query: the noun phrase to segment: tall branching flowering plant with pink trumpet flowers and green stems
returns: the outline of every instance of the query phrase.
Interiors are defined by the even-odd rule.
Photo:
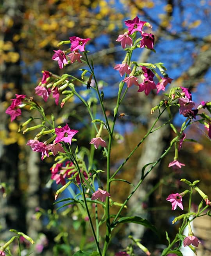
[[[203,101],[196,107],[196,103],[192,101],[191,92],[188,88],[173,87],[168,93],[163,94],[164,99],[159,105],[152,108],[151,114],[156,112],[157,117],[147,133],[142,138],[138,139],[136,147],[129,153],[127,158],[123,160],[122,164],[111,173],[111,148],[114,141],[115,124],[119,116],[119,107],[124,101],[128,90],[131,90],[131,87],[137,87],[137,91],[139,93],[143,92],[147,97],[152,90],[156,90],[157,94],[161,91],[165,91],[166,86],[169,83],[172,83],[173,80],[166,73],[166,68],[163,63],[152,64],[132,61],[132,54],[135,49],[146,48],[155,52],[154,35],[144,31],[145,28],[150,29],[152,27],[150,23],[141,21],[138,16],[136,16],[133,20],[125,21],[125,25],[128,27],[128,30],[123,34],[120,34],[116,39],[116,41],[121,43],[122,48],[125,50],[125,58],[122,63],[118,63],[114,67],[114,70],[119,71],[122,79],[119,83],[118,94],[115,98],[116,105],[114,107],[113,117],[108,117],[106,114],[104,107],[104,92],[97,81],[91,54],[86,50],[86,44],[89,43],[91,38],[83,39],[77,36],[72,36],[67,41],[61,41],[58,44],[58,47],[64,44],[70,44],[70,49],[65,51],[60,49],[54,50],[52,60],[57,61],[59,69],[65,69],[66,66],[74,65],[75,62],[85,63],[88,68],[82,69],[81,78],[77,78],[71,74],[58,76],[50,71],[44,70],[41,82],[35,88],[35,94],[41,96],[44,100],[44,107],[38,104],[33,96],[16,94],[16,97],[11,99],[11,106],[6,110],[6,113],[11,116],[11,122],[21,115],[21,110],[23,109],[37,111],[36,116],[30,117],[20,125],[19,132],[22,131],[23,134],[25,134],[39,129],[39,132],[34,138],[27,142],[27,145],[30,146],[33,151],[40,152],[42,160],[51,155],[55,157],[55,163],[52,165],[52,168],[50,168],[50,171],[51,179],[55,180],[56,184],[59,185],[55,193],[56,203],[64,202],[63,206],[78,206],[81,212],[86,214],[86,220],[89,221],[96,249],[95,251],[83,251],[83,248],[80,248],[80,251],[75,252],[75,256],[107,255],[113,230],[119,224],[133,222],[137,225],[144,225],[156,232],[156,227],[146,219],[139,216],[122,216],[122,211],[127,206],[127,202],[138,187],[141,186],[147,175],[166,157],[173,147],[175,149],[175,156],[168,167],[182,168],[182,166],[185,166],[184,163],[179,162],[179,151],[182,144],[188,140],[186,138],[185,130],[190,124],[197,122],[203,124],[208,130],[208,135],[206,135],[207,138],[211,138],[211,117],[203,112],[204,109],[207,109],[209,113],[211,112],[211,102]],[[154,81],[154,77],[158,80],[157,84]],[[75,88],[75,82],[85,85],[89,92],[91,92],[91,97],[89,97],[88,100],[86,100]],[[95,94],[95,97],[93,97],[93,94]],[[57,105],[58,108],[65,108],[66,103],[72,97],[77,97],[87,108],[90,116],[90,147],[86,148],[86,153],[84,147],[79,148],[79,146],[77,146],[77,135],[80,133],[80,130],[75,130],[74,127],[72,127],[72,124],[68,121],[65,123],[57,123],[53,113],[51,114],[50,119],[46,116],[45,102],[48,101],[48,98],[51,97],[51,95],[55,98],[55,105]],[[100,105],[101,115],[98,116],[101,116],[101,119],[96,119],[96,105]],[[170,108],[177,108],[179,114],[186,117],[180,130],[177,130],[172,123]],[[68,110],[66,111],[68,112]],[[161,126],[157,126],[159,119],[166,111],[169,113],[169,120]],[[34,124],[33,121],[35,119],[36,122],[39,120],[40,123],[30,126],[30,124]],[[145,139],[150,136],[151,133],[161,129],[164,125],[169,125],[170,129],[175,133],[175,137],[170,142],[169,147],[165,149],[164,153],[156,162],[148,163],[143,166],[140,180],[137,185],[133,187],[131,193],[125,198],[123,203],[113,202],[112,193],[110,191],[112,182],[127,182],[127,180],[117,178],[116,175],[120,173],[125,163]],[[103,170],[94,169],[95,166],[93,163],[95,159],[95,150],[103,151],[103,154],[107,159],[105,184],[102,184],[100,180],[100,173]],[[86,161],[84,159],[85,154],[88,155],[88,160]],[[172,210],[175,210],[178,206],[183,211],[183,197],[189,195],[188,210],[185,209],[184,212],[186,213],[179,215],[173,220],[173,224],[181,220],[181,227],[172,242],[166,232],[168,245],[161,253],[162,256],[182,255],[180,251],[182,243],[184,246],[189,246],[195,252],[195,247],[198,246],[200,240],[194,236],[190,222],[203,215],[210,216],[207,208],[211,203],[207,195],[196,186],[199,180],[196,180],[193,183],[185,179],[182,179],[182,181],[189,186],[189,189],[186,189],[181,193],[175,191],[175,194],[169,195],[166,200],[171,202]],[[73,195],[71,198],[59,200],[59,195],[72,183],[77,186],[79,193]],[[98,183],[98,187],[96,187],[96,183]],[[202,201],[198,205],[196,213],[191,211],[193,191],[197,191],[202,197]],[[115,216],[110,214],[113,205],[119,206],[119,210]],[[103,209],[102,215],[98,214],[99,206]],[[102,224],[105,224],[104,227],[106,229],[104,236],[100,233]],[[189,233],[188,236],[185,237],[183,231],[187,226]],[[15,236],[0,247],[0,255],[11,255],[9,246],[15,238],[18,239],[20,245],[20,236],[23,236],[31,243],[34,242],[32,238],[29,238],[27,235],[18,231],[12,231],[15,233]],[[122,249],[122,251],[116,252],[116,256],[134,256],[133,245],[138,246],[147,255],[150,255],[148,249],[142,245],[139,240],[134,239],[132,236],[129,238],[131,238],[132,243],[128,245],[127,248]],[[19,247],[19,255],[21,255],[21,247]]]

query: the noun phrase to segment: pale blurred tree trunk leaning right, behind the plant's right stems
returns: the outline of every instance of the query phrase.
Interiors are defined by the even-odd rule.
[[[193,88],[198,85],[200,80],[204,77],[207,70],[209,70],[211,64],[211,43],[207,43],[209,38],[206,38],[206,43],[201,47],[201,52],[195,58],[195,61],[191,67],[181,75],[178,79],[178,82],[175,81],[171,85],[168,85],[168,89],[174,86],[183,86],[187,88]],[[204,50],[205,49],[205,50]],[[146,56],[144,56],[140,62],[146,61]],[[179,84],[178,84],[179,83]],[[153,106],[159,104],[159,102],[163,99],[163,96],[155,96],[151,101],[146,97],[144,94],[141,94],[141,106],[145,108],[142,110],[145,113],[150,115],[150,109]],[[149,106],[149,102],[151,105]],[[147,109],[146,109],[147,108]],[[176,113],[172,113],[172,118],[175,116]],[[156,112],[150,116],[150,122],[148,122],[147,127],[150,128],[152,123],[154,123],[157,117]],[[168,121],[168,114],[163,115],[160,119],[157,126],[163,124],[165,121]],[[134,178],[133,184],[136,185],[141,178],[141,169],[143,166],[150,162],[155,162],[160,155],[168,148],[170,144],[170,128],[168,125],[162,127],[161,129],[157,130],[156,132],[150,134],[148,138],[145,140],[143,144],[143,150],[141,157],[138,160],[137,164],[137,173]],[[156,168],[154,168],[149,175],[146,177],[144,182],[141,184],[139,189],[134,193],[133,197],[129,201],[129,209],[132,215],[141,216],[143,218],[147,218],[149,216],[145,216],[145,210],[142,207],[142,203],[145,201],[145,196],[147,193],[152,189],[154,181],[159,180],[161,171],[162,170],[162,162],[157,164]],[[153,200],[153,199],[152,199]],[[152,201],[148,202],[148,206],[154,205]],[[150,217],[149,217],[150,218]],[[127,227],[127,234],[131,234],[135,239],[143,237],[145,232],[145,228],[141,225],[137,228],[136,224],[129,224]],[[152,242],[153,241],[148,241]]]

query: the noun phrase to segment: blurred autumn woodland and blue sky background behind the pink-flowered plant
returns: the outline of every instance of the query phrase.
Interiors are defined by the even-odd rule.
[[[29,118],[29,112],[23,111],[21,117],[12,123],[9,115],[5,114],[6,108],[11,104],[10,99],[14,98],[15,94],[34,96],[43,104],[43,100],[34,94],[34,88],[41,81],[42,70],[59,75],[66,72],[80,76],[79,69],[86,68],[82,63],[74,63],[59,70],[57,63],[51,59],[53,50],[58,49],[57,43],[68,40],[70,36],[91,38],[86,49],[93,56],[95,73],[98,81],[101,81],[105,95],[107,115],[112,117],[114,96],[121,79],[119,72],[113,68],[122,63],[124,56],[124,51],[116,39],[119,34],[127,31],[124,20],[133,19],[138,15],[140,20],[152,25],[152,29],[147,28],[145,31],[155,35],[156,53],[138,49],[134,52],[134,60],[163,62],[168,75],[173,79],[171,86],[190,88],[193,101],[198,106],[201,101],[211,99],[210,11],[209,0],[0,0],[1,244],[12,236],[9,229],[17,229],[36,240],[31,255],[72,255],[75,248],[82,246],[82,243],[84,248],[93,246],[84,216],[75,214],[77,207],[73,206],[76,207],[74,210],[66,208],[64,211],[56,211],[53,206],[54,193],[57,190],[56,184],[50,181],[53,158],[41,161],[39,153],[25,145],[35,134],[27,133],[23,136],[18,133],[20,123]],[[64,45],[60,49],[67,48],[68,45]],[[89,97],[86,87],[80,84],[76,86],[84,97]],[[163,99],[162,94],[157,96],[152,92],[146,97],[143,93],[137,94],[137,88],[130,89],[120,107],[120,113],[125,113],[125,116],[119,119],[116,125],[112,171],[116,170],[136,146],[137,141],[145,135],[156,118],[156,115],[150,115],[150,110]],[[71,128],[80,128],[79,147],[89,148],[89,131],[84,124],[90,120],[87,110],[79,101],[72,98],[65,108],[61,109],[55,108],[54,99],[51,98],[45,103],[45,109],[46,115],[49,116],[52,110],[54,111],[57,123],[68,122]],[[185,120],[178,112],[172,112],[172,116],[175,126],[178,127]],[[161,121],[165,121],[165,117]],[[157,160],[173,137],[169,126],[152,133],[125,164],[119,177],[136,184],[142,167]],[[177,171],[168,168],[168,163],[172,162],[174,157],[172,150],[148,175],[124,212],[150,220],[158,228],[159,236],[141,226],[124,225],[114,234],[110,255],[128,245],[129,234],[140,238],[141,243],[150,249],[152,255],[159,255],[166,244],[165,230],[168,230],[169,237],[172,238],[177,229],[176,224],[172,225],[172,220],[181,211],[171,211],[166,197],[170,193],[182,192],[187,188],[181,184],[181,178],[190,181],[200,179],[200,188],[211,196],[210,141],[194,125],[188,129],[186,138],[197,140],[197,143],[185,142],[179,152],[179,160],[186,166]],[[97,154],[95,166],[104,169],[105,159],[100,150]],[[105,180],[104,174],[101,177]],[[123,202],[131,186],[123,182],[115,185],[117,184],[111,187],[112,199]],[[198,204],[200,197],[195,195],[194,200],[195,204]],[[184,201],[185,207],[187,204],[188,200]],[[113,208],[113,214],[116,209]],[[201,236],[198,235],[198,238],[204,241],[204,247],[201,247],[201,250],[204,250],[202,255],[211,253],[206,240],[210,224],[206,223],[207,226],[200,231]],[[85,230],[88,235],[82,238]],[[29,247],[24,242],[22,246],[26,249]],[[14,255],[15,250],[14,246]],[[137,255],[142,254],[137,251]]]

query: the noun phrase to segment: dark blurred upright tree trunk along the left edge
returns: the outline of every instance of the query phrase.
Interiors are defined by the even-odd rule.
[[[3,83],[2,101],[9,101],[14,94],[21,94],[21,68],[20,68],[20,48],[19,34],[22,26],[22,5],[23,1],[4,1],[2,10],[4,17],[2,20],[2,40],[11,45],[4,49],[7,56],[6,61],[1,64],[1,78]],[[16,40],[14,38],[16,37]],[[8,53],[11,53],[10,55]],[[14,88],[11,91],[11,88]],[[2,130],[5,130],[5,123],[9,123],[9,118],[2,113],[4,120],[1,123]],[[13,143],[13,142],[12,142]],[[9,229],[18,229],[25,232],[25,206],[21,198],[20,175],[19,175],[19,146],[13,143],[1,147],[1,172],[0,181],[6,182],[9,187],[9,195],[1,201],[0,223],[2,230],[0,239],[7,239],[11,236]]]

